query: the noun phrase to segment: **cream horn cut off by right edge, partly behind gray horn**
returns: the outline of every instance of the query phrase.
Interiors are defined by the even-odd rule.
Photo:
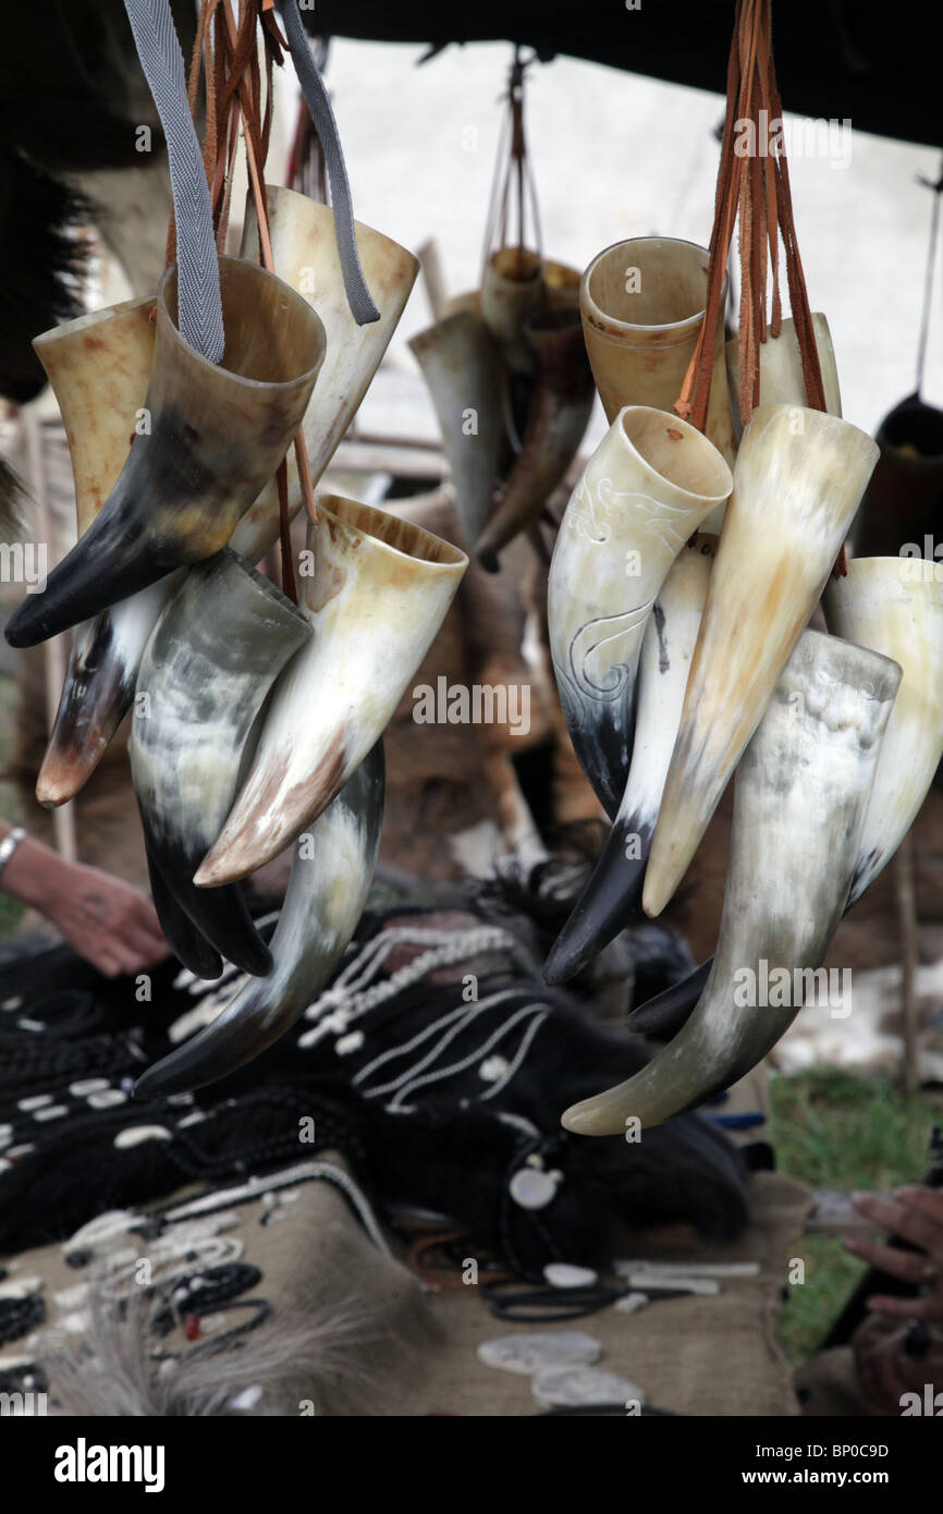
[[[881,742],[845,911],[890,861],[913,825],[943,757],[943,586],[932,563],[855,557],[831,580],[828,628],[899,663],[904,672]],[[926,572],[929,569],[929,574]],[[693,1010],[710,961],[630,1014],[633,1031],[674,1034]]]

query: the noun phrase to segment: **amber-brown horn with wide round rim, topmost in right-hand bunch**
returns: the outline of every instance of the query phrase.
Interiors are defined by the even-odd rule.
[[[681,392],[707,301],[708,253],[696,242],[634,236],[593,257],[583,274],[580,310],[586,351],[613,421],[625,404],[671,410]],[[714,335],[707,435],[728,463],[734,424],[724,360],[724,304]]]

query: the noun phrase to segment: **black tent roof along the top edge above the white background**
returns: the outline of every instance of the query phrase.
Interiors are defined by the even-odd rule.
[[[516,41],[724,91],[733,0],[316,0],[310,32],[380,42]],[[805,117],[943,145],[940,0],[773,0],[783,103]],[[433,65],[434,67],[434,65]],[[578,103],[569,104],[577,111]]]

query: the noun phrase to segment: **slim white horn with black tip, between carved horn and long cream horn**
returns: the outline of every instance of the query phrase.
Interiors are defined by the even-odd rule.
[[[678,734],[711,557],[707,542],[689,545],[655,600],[639,659],[639,709],[625,792],[602,855],[546,958],[546,983],[572,978],[642,910],[642,880]]]

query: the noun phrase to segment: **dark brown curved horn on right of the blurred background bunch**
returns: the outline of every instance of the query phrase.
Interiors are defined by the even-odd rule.
[[[489,572],[498,553],[534,519],[577,456],[596,395],[575,310],[537,310],[524,322],[536,383],[524,445],[475,553]]]

